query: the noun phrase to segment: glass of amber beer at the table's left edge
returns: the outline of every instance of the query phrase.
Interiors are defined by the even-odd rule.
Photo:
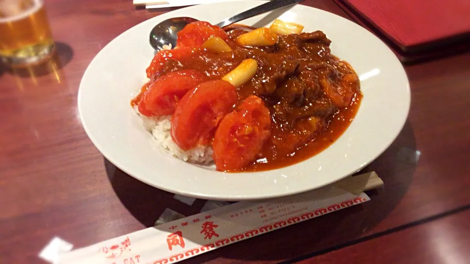
[[[40,63],[53,51],[44,0],[0,0],[0,58],[5,64]]]

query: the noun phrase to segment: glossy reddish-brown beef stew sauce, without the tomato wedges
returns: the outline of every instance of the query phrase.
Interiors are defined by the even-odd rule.
[[[320,153],[349,127],[362,99],[356,73],[331,54],[323,32],[280,36],[273,46],[238,46],[235,38],[251,29],[239,25],[225,29],[231,52],[196,48],[188,51],[190,56],[165,59],[149,82],[183,69],[197,69],[209,80],[219,80],[243,60],[257,60],[258,71],[237,88],[235,105],[250,95],[262,98],[270,110],[272,132],[256,160],[234,172],[281,168]]]

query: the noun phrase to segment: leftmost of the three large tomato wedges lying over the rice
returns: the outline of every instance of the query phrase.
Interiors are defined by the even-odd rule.
[[[207,76],[198,70],[170,72],[153,82],[143,93],[139,112],[146,116],[173,114],[181,98],[206,79]]]

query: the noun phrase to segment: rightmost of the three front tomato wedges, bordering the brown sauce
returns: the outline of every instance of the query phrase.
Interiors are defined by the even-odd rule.
[[[271,135],[271,117],[263,101],[252,95],[222,119],[212,155],[219,171],[243,169],[253,162]]]

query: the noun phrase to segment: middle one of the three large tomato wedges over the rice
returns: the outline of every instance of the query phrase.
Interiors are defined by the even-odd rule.
[[[216,80],[200,84],[181,99],[171,119],[171,137],[182,149],[208,145],[220,120],[233,109],[235,87]]]

